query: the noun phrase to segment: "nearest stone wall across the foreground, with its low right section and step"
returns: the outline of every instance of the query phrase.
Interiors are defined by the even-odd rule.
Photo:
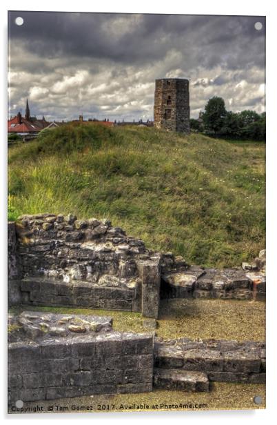
[[[9,317],[8,393],[21,399],[210,391],[210,383],[265,383],[265,343],[163,340],[119,333],[110,317],[23,312]]]

